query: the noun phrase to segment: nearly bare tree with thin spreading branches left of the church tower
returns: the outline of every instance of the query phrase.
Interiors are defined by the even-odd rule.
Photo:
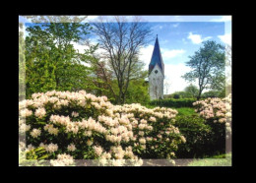
[[[93,26],[99,47],[105,51],[102,56],[117,81],[118,91],[112,90],[116,103],[124,103],[130,80],[136,72],[133,71],[138,62],[136,56],[141,46],[150,41],[150,29],[138,17],[127,23],[125,17],[120,16],[114,17],[114,22],[99,17]]]

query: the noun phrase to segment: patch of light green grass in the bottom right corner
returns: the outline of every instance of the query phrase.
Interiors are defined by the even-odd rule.
[[[231,166],[231,152],[212,157],[195,159],[188,166]]]

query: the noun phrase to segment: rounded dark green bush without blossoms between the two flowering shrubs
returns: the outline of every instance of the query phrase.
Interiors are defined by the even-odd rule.
[[[203,157],[211,152],[209,145],[212,128],[205,124],[203,118],[198,115],[181,115],[176,117],[173,125],[186,138],[186,143],[178,146],[177,158]]]

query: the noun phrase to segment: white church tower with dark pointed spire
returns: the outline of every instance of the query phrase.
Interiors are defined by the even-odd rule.
[[[149,92],[151,99],[163,98],[164,64],[160,54],[160,43],[157,39],[149,65]]]

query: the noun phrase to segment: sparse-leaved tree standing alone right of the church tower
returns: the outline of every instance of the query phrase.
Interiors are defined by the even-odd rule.
[[[208,40],[203,42],[203,47],[196,51],[186,65],[193,70],[186,73],[183,78],[186,81],[198,80],[198,95],[200,99],[205,89],[224,89],[224,46],[216,41]]]

